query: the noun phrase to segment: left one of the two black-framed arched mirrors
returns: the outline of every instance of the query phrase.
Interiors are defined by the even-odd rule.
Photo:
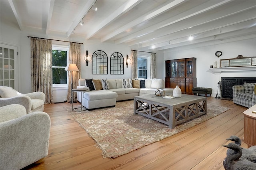
[[[108,74],[108,56],[104,51],[92,54],[92,74]]]

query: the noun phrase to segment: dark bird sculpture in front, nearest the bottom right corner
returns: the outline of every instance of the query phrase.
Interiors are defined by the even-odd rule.
[[[256,170],[256,163],[240,158],[242,156],[242,149],[238,144],[229,143],[223,146],[234,150],[233,154],[228,155],[223,160],[225,170]]]

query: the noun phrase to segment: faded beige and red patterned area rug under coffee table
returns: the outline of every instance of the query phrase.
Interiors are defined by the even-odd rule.
[[[208,105],[207,115],[171,129],[168,125],[133,114],[133,101],[116,102],[116,107],[76,112],[70,115],[91,136],[104,158],[116,158],[207,121],[230,108]]]

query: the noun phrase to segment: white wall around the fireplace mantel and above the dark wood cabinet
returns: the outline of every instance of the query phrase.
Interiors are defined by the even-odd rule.
[[[216,51],[222,51],[222,55],[219,58],[215,56]],[[218,62],[219,67],[220,59],[235,58],[238,55],[243,55],[244,57],[256,56],[256,39],[219,43],[204,47],[179,47],[165,50],[164,60],[196,57],[197,87],[210,87],[213,89],[213,95],[215,96],[220,77],[256,77],[256,70],[214,74],[208,69],[210,65],[214,65],[214,61]],[[163,71],[164,68],[162,68]]]

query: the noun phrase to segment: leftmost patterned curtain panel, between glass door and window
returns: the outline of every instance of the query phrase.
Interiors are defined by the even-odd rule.
[[[44,103],[53,103],[52,41],[31,38],[30,46],[32,91],[42,91],[45,94]]]

